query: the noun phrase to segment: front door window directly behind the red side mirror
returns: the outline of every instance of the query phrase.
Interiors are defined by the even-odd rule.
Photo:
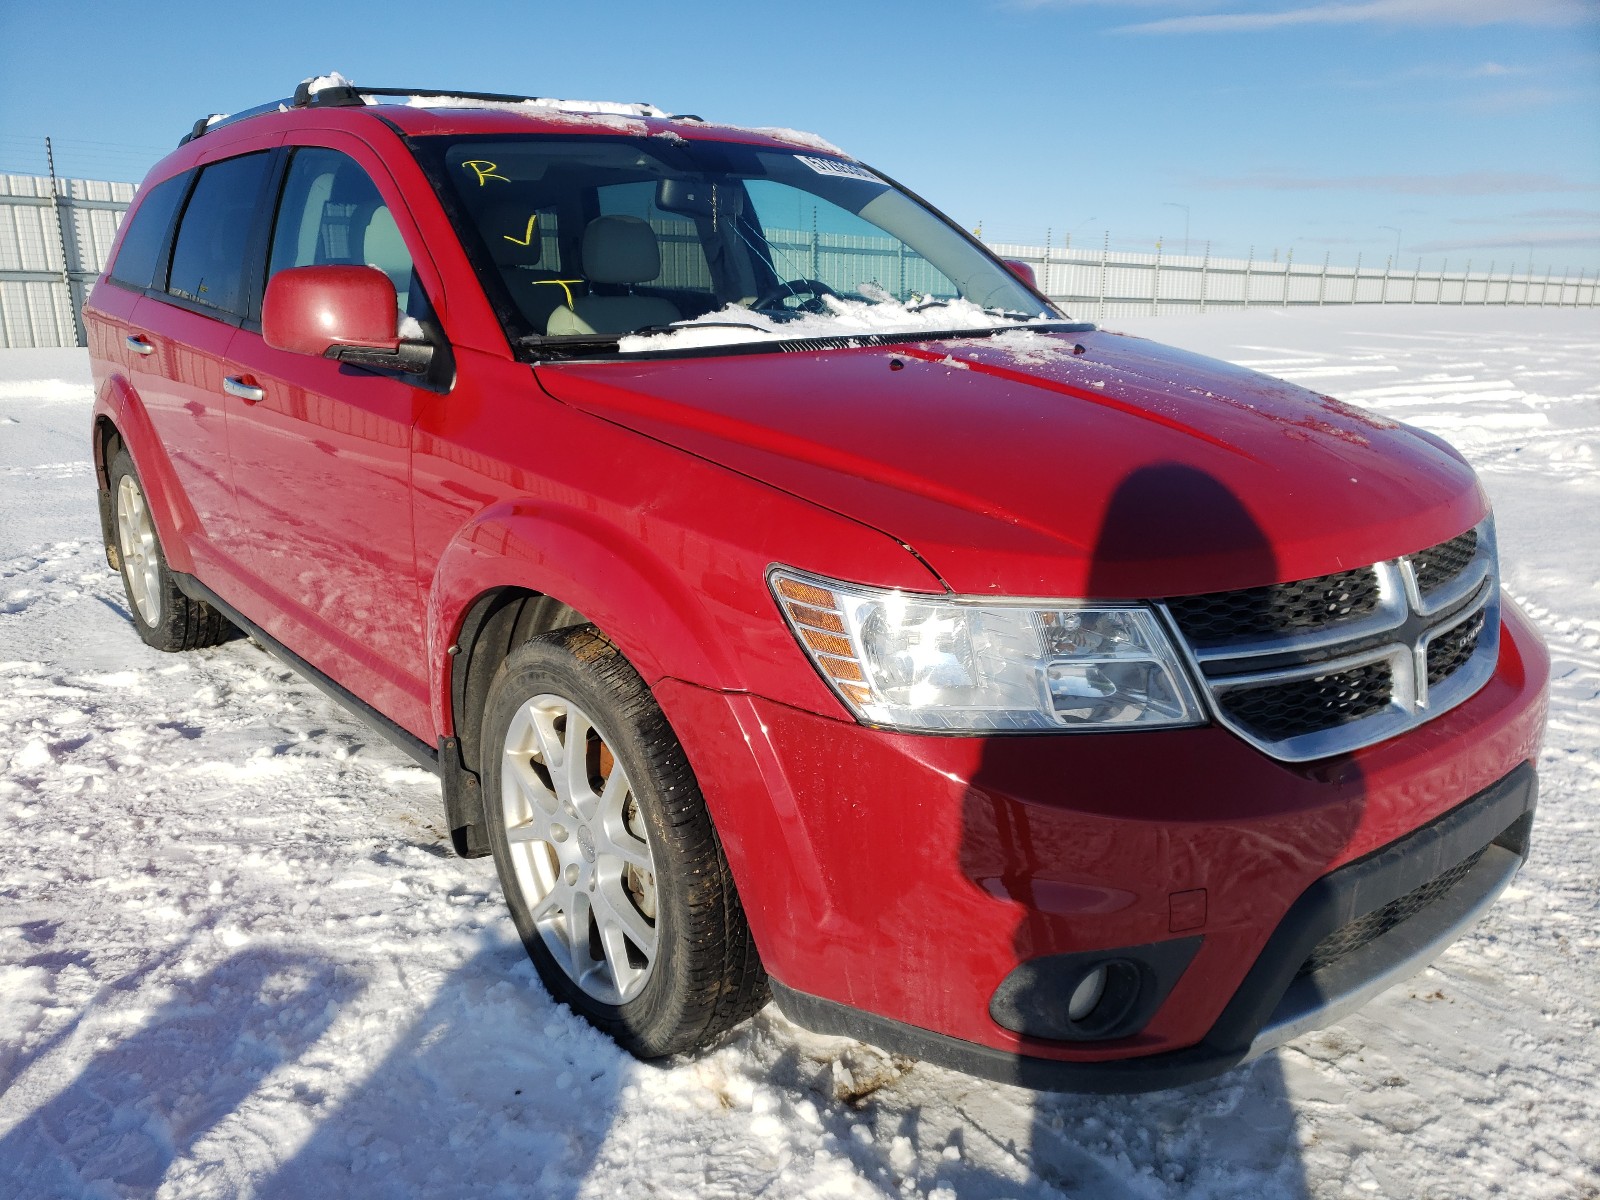
[[[394,282],[400,312],[421,315],[411,253],[376,184],[350,155],[302,147],[283,181],[267,278],[323,264],[378,267]]]

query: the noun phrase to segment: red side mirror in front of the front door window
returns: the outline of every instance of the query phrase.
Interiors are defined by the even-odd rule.
[[[290,267],[261,302],[267,346],[357,366],[422,374],[434,347],[400,339],[395,285],[378,267]]]

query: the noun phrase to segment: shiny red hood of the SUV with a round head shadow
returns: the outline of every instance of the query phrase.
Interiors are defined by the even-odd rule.
[[[1304,579],[1445,541],[1488,507],[1437,438],[1112,333],[536,373],[557,400],[882,530],[971,595]],[[797,539],[794,565],[826,571],[826,547]]]

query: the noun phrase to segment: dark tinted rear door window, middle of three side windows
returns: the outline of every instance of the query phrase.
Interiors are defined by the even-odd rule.
[[[270,155],[224,158],[200,171],[173,243],[166,290],[211,309],[243,312],[251,222]]]

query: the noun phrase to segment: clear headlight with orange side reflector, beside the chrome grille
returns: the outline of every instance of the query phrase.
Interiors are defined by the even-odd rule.
[[[787,568],[768,584],[822,678],[869,725],[981,733],[1205,720],[1149,608],[928,597]]]

